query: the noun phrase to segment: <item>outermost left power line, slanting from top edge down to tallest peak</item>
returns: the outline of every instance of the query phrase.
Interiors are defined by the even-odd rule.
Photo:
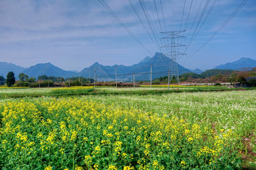
[[[125,30],[127,30],[127,33],[129,33],[129,35],[131,35],[132,38],[134,38],[134,40],[136,40],[136,41],[139,43],[139,45],[141,45],[141,46],[144,48],[144,50],[146,50],[146,52],[151,53],[151,52],[142,44],[142,42],[140,42],[140,41],[138,40],[138,38],[136,38],[136,36],[129,30],[129,28],[127,28],[127,26],[124,25],[124,23],[117,17],[117,15],[114,14],[114,12],[112,11],[112,9],[111,9],[109,6],[107,6],[107,4],[106,4],[103,0],[98,0],[98,1],[100,1],[100,4],[102,4],[102,6],[104,6],[104,7],[107,9],[107,11],[117,20],[117,22],[118,22]],[[152,53],[151,53],[151,54],[152,54]]]

